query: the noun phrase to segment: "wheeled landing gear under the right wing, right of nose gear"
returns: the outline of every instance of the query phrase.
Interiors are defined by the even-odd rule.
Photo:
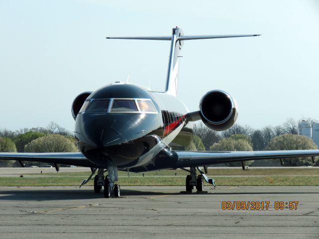
[[[196,168],[200,173],[198,176],[196,175]],[[190,167],[190,170],[182,168],[190,173],[190,175],[186,176],[186,192],[192,192],[194,186],[196,187],[197,192],[202,192],[204,190],[204,180],[215,187],[214,179],[208,178],[199,167],[196,168]]]

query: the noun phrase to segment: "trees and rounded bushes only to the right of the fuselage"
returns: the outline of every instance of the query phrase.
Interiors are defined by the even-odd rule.
[[[203,123],[195,124],[193,139],[188,150],[198,151],[263,151],[317,149],[317,144],[304,135],[297,135],[298,124],[289,118],[281,125],[253,129],[248,125],[234,124],[229,129],[218,132]],[[269,160],[266,160],[269,161]],[[253,161],[246,161],[251,164]],[[240,162],[228,163],[240,166]],[[286,158],[285,166],[314,165],[311,158]]]

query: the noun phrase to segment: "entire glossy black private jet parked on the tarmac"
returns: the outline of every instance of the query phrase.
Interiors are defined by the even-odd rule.
[[[178,27],[171,36],[107,37],[108,39],[140,39],[170,41],[170,53],[165,91],[153,92],[138,85],[115,82],[94,92],[78,95],[72,103],[75,119],[75,137],[80,152],[69,153],[0,153],[0,159],[42,161],[90,167],[94,191],[104,186],[104,196],[120,196],[118,170],[146,172],[181,168],[186,176],[186,191],[193,187],[203,190],[203,180],[215,186],[208,178],[207,165],[246,160],[282,159],[285,157],[314,157],[319,150],[216,152],[186,151],[191,138],[192,121],[202,122],[213,130],[231,127],[238,115],[235,100],[222,90],[207,92],[199,102],[199,111],[188,112],[176,98],[178,65],[181,48],[186,40],[248,37],[252,35],[185,36]],[[202,170],[200,167],[203,167]],[[96,173],[97,171],[97,173]],[[196,172],[199,172],[198,175]],[[104,177],[104,173],[107,176]],[[205,174],[206,173],[206,174]],[[82,186],[81,185],[81,186]]]

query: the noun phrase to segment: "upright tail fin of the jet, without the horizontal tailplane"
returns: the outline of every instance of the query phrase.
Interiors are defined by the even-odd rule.
[[[181,36],[183,36],[183,31],[180,28],[172,29],[165,92],[173,96],[177,94],[178,66],[183,45],[183,41],[179,40]]]

